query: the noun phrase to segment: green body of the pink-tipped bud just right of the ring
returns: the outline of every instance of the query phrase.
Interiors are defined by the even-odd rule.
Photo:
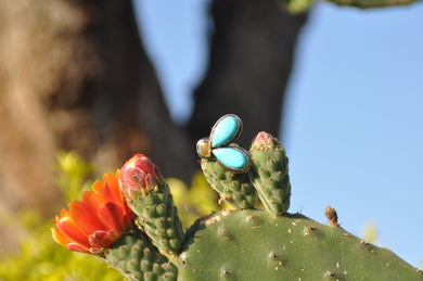
[[[253,159],[253,181],[262,205],[274,215],[285,213],[291,200],[285,149],[277,139],[272,139],[271,145],[255,146],[253,143],[249,153]]]

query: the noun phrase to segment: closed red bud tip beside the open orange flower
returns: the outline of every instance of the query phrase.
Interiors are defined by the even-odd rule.
[[[143,154],[136,154],[120,169],[119,182],[127,200],[148,194],[164,182],[157,166]]]

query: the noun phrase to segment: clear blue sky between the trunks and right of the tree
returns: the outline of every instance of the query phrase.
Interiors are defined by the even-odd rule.
[[[136,1],[145,48],[172,116],[190,116],[207,65],[207,7]],[[281,140],[290,157],[290,212],[362,237],[415,267],[423,260],[423,2],[362,11],[319,2],[298,41]]]

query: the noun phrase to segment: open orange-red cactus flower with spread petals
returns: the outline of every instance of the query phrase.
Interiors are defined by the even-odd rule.
[[[120,192],[118,174],[105,174],[104,182],[97,180],[92,191],[82,193],[81,201],[74,200],[68,204],[69,210],[61,210],[52,220],[55,242],[72,251],[101,255],[103,248],[134,226]]]

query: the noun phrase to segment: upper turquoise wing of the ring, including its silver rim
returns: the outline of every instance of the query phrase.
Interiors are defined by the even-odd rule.
[[[242,122],[234,114],[227,114],[220,117],[213,126],[210,142],[213,148],[219,148],[229,144],[235,140],[242,132]]]

